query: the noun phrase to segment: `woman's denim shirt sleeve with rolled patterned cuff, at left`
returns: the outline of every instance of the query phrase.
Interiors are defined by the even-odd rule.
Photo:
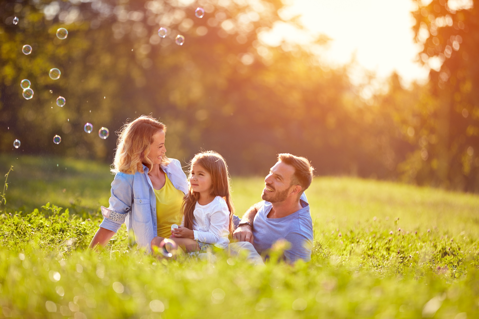
[[[110,217],[103,216],[100,227],[112,230],[116,233],[125,222],[128,213],[131,212],[133,202],[132,186],[121,173],[115,175],[108,202],[110,204],[108,209],[110,209],[112,213]]]

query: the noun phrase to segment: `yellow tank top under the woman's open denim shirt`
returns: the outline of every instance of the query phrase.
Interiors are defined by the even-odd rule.
[[[169,238],[171,236],[171,225],[181,224],[181,204],[184,194],[173,186],[166,174],[165,178],[165,185],[161,189],[153,189],[153,191],[156,196],[158,236]]]

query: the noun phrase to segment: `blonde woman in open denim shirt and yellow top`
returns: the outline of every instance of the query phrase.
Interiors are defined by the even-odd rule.
[[[171,236],[171,225],[181,223],[182,199],[188,193],[180,161],[165,156],[166,126],[151,116],[140,116],[123,126],[114,158],[115,178],[103,222],[90,248],[104,247],[123,222],[128,237],[150,251],[151,239]]]

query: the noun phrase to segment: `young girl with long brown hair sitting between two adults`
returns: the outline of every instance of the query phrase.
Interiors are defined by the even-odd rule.
[[[234,213],[228,166],[217,152],[201,152],[190,166],[189,192],[183,198],[182,225],[170,237],[184,251],[202,251],[210,245],[225,249],[232,234]],[[162,238],[152,241],[158,246]]]

